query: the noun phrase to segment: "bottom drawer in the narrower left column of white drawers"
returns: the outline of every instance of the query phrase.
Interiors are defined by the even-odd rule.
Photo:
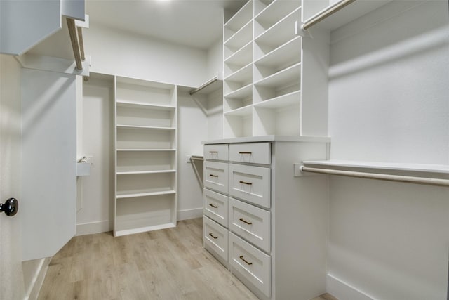
[[[203,217],[203,241],[204,246],[208,249],[217,259],[222,262],[227,262],[228,256],[228,233],[229,231],[208,219],[207,216]],[[227,264],[227,263],[225,263]]]

